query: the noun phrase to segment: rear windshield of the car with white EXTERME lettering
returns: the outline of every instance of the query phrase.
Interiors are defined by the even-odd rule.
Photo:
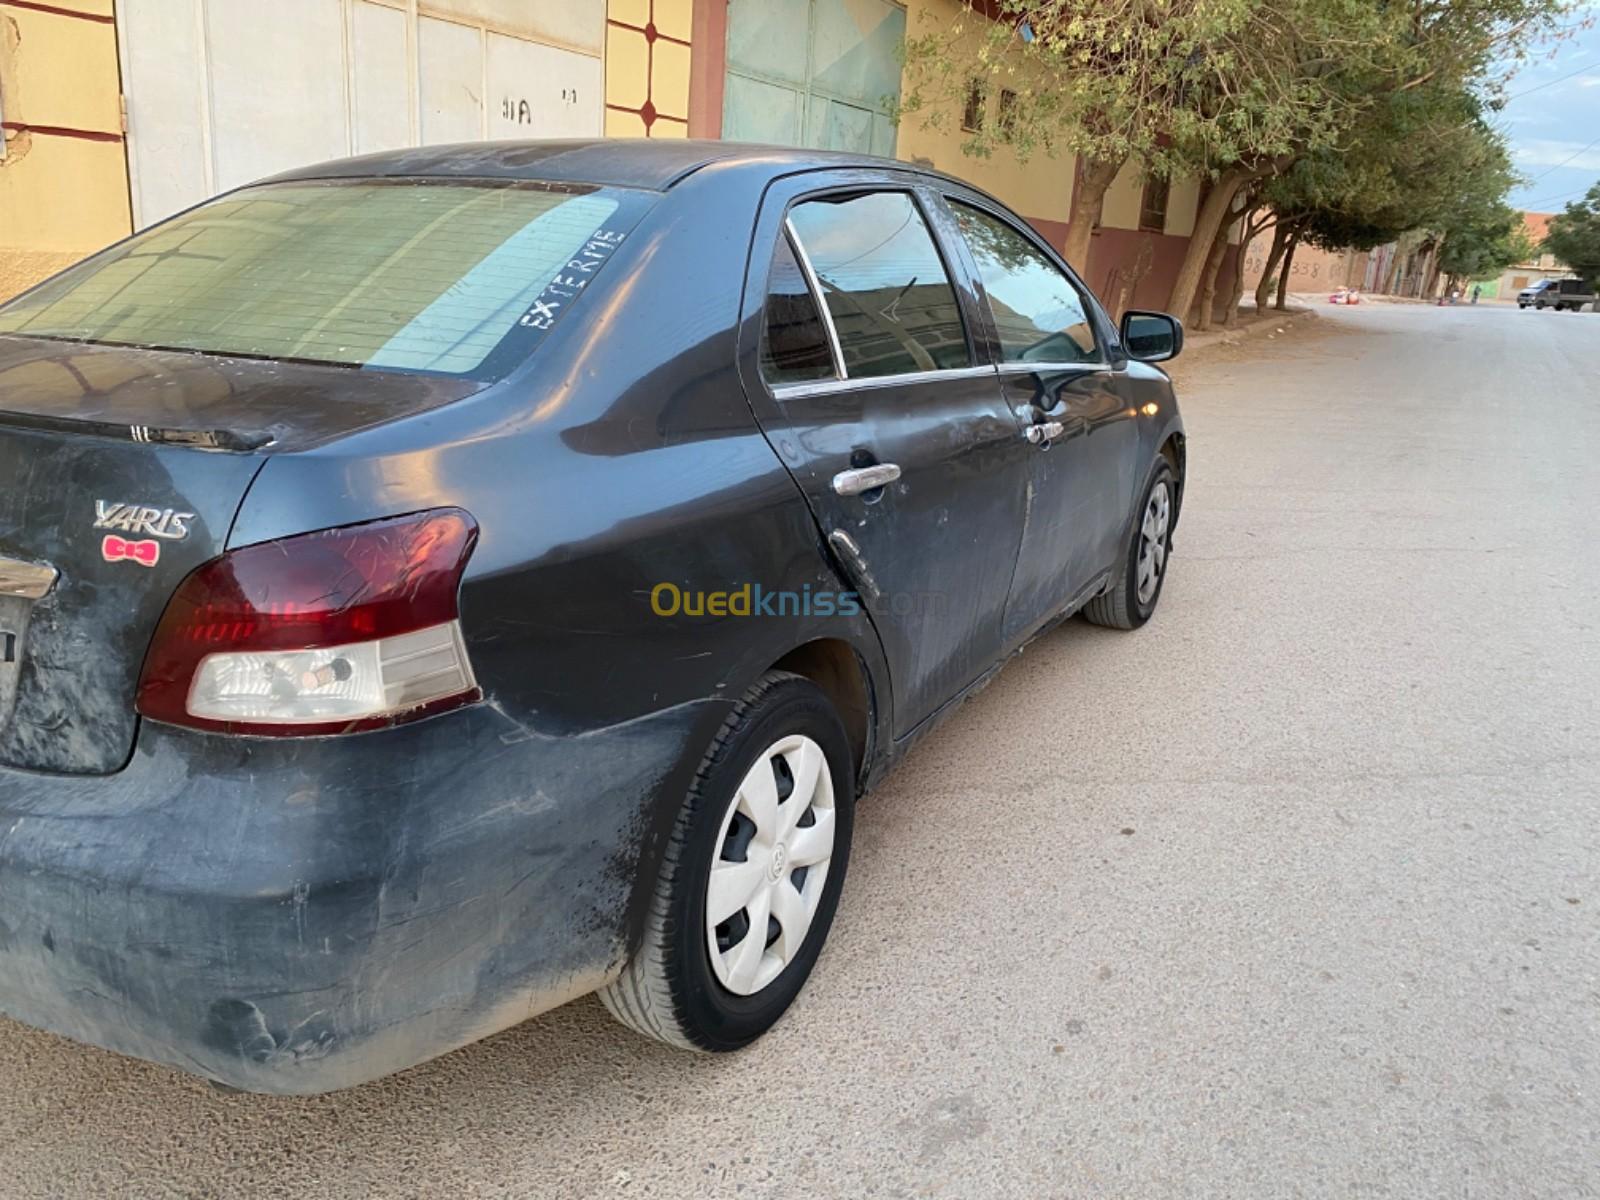
[[[0,333],[496,378],[648,205],[645,192],[525,182],[253,187],[0,307]]]

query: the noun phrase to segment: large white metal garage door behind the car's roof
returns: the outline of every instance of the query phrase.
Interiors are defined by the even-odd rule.
[[[120,0],[134,222],[402,146],[598,136],[605,0]]]

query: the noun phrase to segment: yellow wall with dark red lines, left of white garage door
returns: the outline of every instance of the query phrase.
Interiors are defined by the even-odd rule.
[[[0,298],[131,232],[112,0],[0,3]]]

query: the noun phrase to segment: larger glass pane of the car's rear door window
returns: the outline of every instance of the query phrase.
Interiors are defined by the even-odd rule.
[[[822,286],[845,374],[971,366],[955,288],[909,194],[808,200],[789,222]]]

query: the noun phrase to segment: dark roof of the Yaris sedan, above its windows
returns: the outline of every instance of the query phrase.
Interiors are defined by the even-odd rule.
[[[898,158],[867,154],[806,150],[792,146],[757,146],[685,138],[560,139],[525,142],[458,142],[386,150],[358,158],[336,158],[274,176],[266,182],[296,179],[528,179],[542,182],[646,187],[664,192],[710,163],[744,165],[771,176],[827,166],[891,171],[939,171]],[[952,178],[952,176],[944,176]],[[954,179],[954,182],[962,182]]]

